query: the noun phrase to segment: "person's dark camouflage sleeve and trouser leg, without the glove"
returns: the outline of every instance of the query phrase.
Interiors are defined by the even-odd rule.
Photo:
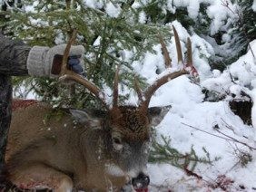
[[[10,75],[26,75],[26,59],[30,47],[0,34],[0,191],[6,189],[5,148],[12,116],[12,84]]]

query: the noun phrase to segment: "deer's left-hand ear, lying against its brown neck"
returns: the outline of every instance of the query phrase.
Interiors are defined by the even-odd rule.
[[[74,120],[85,126],[93,127],[96,129],[101,129],[101,121],[103,116],[95,115],[94,111],[90,110],[70,110]]]

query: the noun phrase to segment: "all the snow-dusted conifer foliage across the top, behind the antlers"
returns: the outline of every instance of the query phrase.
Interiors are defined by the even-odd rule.
[[[6,0],[2,1],[0,27],[12,38],[45,46],[66,43],[75,28],[77,43],[83,44],[86,51],[87,78],[101,88],[112,88],[114,68],[122,65],[121,84],[132,88],[132,62],[143,61],[144,53],[153,51],[153,44],[159,43],[159,34],[170,40],[168,24],[173,21],[180,22],[189,34],[196,33],[211,43],[212,69],[225,69],[245,53],[249,42],[255,39],[256,16],[252,3],[253,0],[222,0],[222,6],[230,9],[236,19],[227,16],[212,33],[215,21],[209,14],[209,1],[194,2],[198,6],[192,6],[192,1],[171,0]],[[195,8],[198,10],[194,11]],[[28,91],[35,91],[41,100],[57,105],[84,107],[98,103],[84,88],[67,88],[53,79],[28,78],[15,82],[28,85]]]

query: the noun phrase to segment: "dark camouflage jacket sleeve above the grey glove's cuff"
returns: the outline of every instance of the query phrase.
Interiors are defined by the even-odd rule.
[[[27,75],[26,60],[31,47],[0,34],[0,74]]]

